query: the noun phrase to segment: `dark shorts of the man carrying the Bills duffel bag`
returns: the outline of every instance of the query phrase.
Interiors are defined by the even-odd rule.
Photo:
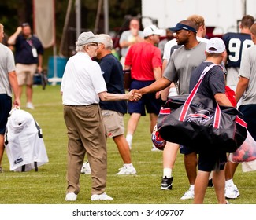
[[[198,155],[198,170],[206,172],[224,170],[227,162],[225,152],[199,152]]]

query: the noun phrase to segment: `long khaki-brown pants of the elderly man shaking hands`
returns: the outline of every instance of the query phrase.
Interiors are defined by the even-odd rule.
[[[64,107],[68,130],[67,192],[80,192],[80,172],[83,159],[91,166],[91,194],[102,194],[106,189],[106,130],[98,105]]]

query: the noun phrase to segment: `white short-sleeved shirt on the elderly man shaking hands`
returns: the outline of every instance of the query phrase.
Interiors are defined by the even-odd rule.
[[[96,61],[83,52],[69,58],[61,82],[63,105],[98,103],[98,94],[104,91],[106,83]]]

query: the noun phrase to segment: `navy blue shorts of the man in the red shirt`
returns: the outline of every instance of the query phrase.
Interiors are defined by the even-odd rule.
[[[141,89],[145,86],[149,86],[154,83],[154,81],[137,81],[133,80],[130,86],[132,89]],[[139,101],[128,101],[128,113],[139,113],[141,116],[146,116],[145,107],[147,113],[159,114],[161,108],[160,99],[155,98],[156,93],[144,94]]]

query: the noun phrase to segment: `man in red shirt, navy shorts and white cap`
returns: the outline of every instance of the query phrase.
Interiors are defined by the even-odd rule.
[[[161,78],[161,51],[154,46],[160,40],[161,30],[150,25],[145,27],[143,35],[144,41],[132,45],[125,58],[124,70],[131,70],[130,90],[143,88]],[[128,113],[131,116],[128,120],[126,140],[130,148],[140,116],[146,116],[145,107],[150,114],[150,134],[152,133],[161,108],[157,97],[156,93],[145,94],[138,102],[128,102]]]

